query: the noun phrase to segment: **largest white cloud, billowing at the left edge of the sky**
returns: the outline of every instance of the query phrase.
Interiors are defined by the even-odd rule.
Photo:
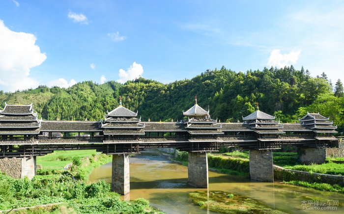
[[[6,91],[23,90],[38,86],[29,77],[30,69],[39,66],[47,58],[35,45],[31,33],[15,32],[0,20],[0,87]]]

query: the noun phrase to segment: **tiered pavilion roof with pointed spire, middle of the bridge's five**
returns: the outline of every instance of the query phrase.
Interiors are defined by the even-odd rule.
[[[209,109],[206,111],[197,104],[197,96],[195,105],[183,111],[183,115],[188,116],[183,123],[189,134],[224,134],[221,132],[221,124],[210,118]]]

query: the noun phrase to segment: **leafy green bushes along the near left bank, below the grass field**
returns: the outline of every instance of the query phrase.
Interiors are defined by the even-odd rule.
[[[68,175],[58,177],[35,176],[32,180],[12,179],[0,174],[0,210],[29,207],[41,204],[64,202],[65,207],[36,208],[37,213],[159,213],[144,199],[133,203],[120,200],[117,193],[110,191],[104,181],[87,185],[84,181],[73,180]],[[22,212],[21,212],[22,213]]]

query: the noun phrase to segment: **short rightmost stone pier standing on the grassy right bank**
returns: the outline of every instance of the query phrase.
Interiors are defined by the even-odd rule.
[[[324,148],[300,148],[300,162],[302,164],[324,163],[326,149]]]

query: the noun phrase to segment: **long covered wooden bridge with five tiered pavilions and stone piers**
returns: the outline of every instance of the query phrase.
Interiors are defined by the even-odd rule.
[[[183,115],[186,119],[177,122],[141,121],[138,112],[123,107],[120,101],[104,120],[51,121],[38,119],[32,104],[5,104],[0,110],[0,170],[14,178],[32,178],[37,156],[56,150],[95,149],[113,155],[112,189],[127,194],[129,155],[144,149],[187,151],[189,184],[206,188],[206,154],[220,146],[249,149],[251,179],[266,182],[273,181],[273,149],[294,145],[300,148],[302,163],[321,163],[325,148],[338,146],[333,136],[337,127],[319,113],[307,113],[299,123],[288,124],[257,109],[243,117],[243,122],[223,123],[212,119],[209,109],[200,107],[196,99]]]

